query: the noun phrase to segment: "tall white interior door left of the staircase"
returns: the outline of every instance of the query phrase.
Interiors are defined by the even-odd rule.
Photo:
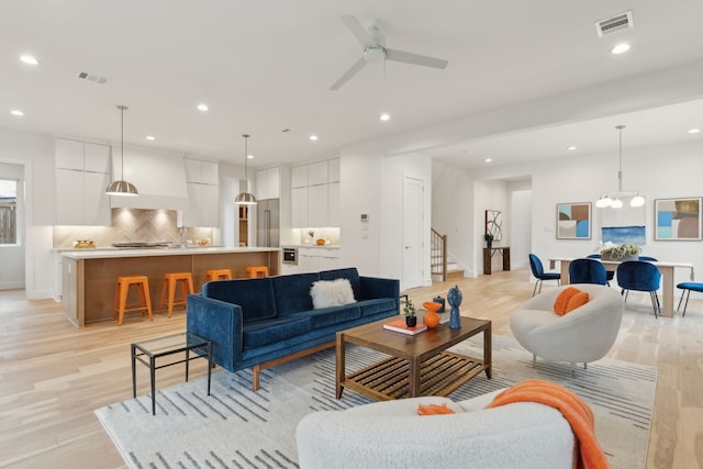
[[[403,289],[422,287],[423,191],[421,179],[403,182]]]

